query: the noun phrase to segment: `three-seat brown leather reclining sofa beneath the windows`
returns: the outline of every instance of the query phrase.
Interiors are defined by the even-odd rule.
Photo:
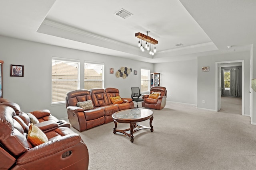
[[[123,109],[134,108],[131,98],[122,98],[121,104],[112,104],[110,97],[120,96],[116,88],[95,88],[68,92],[66,107],[69,123],[78,131],[112,122],[112,114]],[[93,109],[84,110],[78,102],[92,101]]]

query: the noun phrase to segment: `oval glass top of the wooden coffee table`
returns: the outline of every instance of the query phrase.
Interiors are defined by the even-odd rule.
[[[152,110],[149,109],[126,109],[119,111],[115,114],[115,117],[121,119],[136,119],[136,118],[144,118],[153,114]]]

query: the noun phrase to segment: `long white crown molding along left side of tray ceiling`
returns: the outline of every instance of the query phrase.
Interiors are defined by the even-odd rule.
[[[62,23],[57,23],[55,21],[51,21],[51,20],[46,20],[45,19],[42,22],[42,24],[48,25],[48,26],[51,26],[51,27],[56,27],[56,28],[59,28],[59,29],[63,29],[65,31],[69,31],[69,32],[76,33],[76,34],[79,34],[79,35],[83,35],[83,36],[86,36],[86,37],[90,37],[90,38],[93,38],[93,39],[98,39],[100,41],[105,41],[107,43],[112,43],[112,44],[120,45],[122,47],[137,49],[137,47],[134,47],[133,45],[128,45],[126,43],[121,43],[119,41],[115,41],[113,39],[109,39],[109,38],[106,38],[106,37],[102,37],[100,35],[89,33],[89,32],[86,32],[86,31],[78,29],[78,28],[74,28],[74,27],[70,27],[68,25],[64,25]]]

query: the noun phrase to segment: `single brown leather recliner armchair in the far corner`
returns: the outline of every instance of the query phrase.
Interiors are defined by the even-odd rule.
[[[142,101],[142,107],[150,108],[150,109],[162,109],[164,108],[166,104],[166,96],[167,96],[167,90],[165,87],[161,86],[154,86],[150,88],[150,94],[153,92],[160,92],[160,96],[158,98],[148,98],[149,94],[143,95],[143,101]]]

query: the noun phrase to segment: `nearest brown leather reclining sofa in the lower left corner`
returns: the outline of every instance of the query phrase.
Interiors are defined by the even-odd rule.
[[[34,146],[27,139],[30,125],[30,118],[17,104],[1,103],[0,169],[88,169],[88,149],[80,135],[53,120],[44,121],[35,126],[44,132],[48,142]]]

